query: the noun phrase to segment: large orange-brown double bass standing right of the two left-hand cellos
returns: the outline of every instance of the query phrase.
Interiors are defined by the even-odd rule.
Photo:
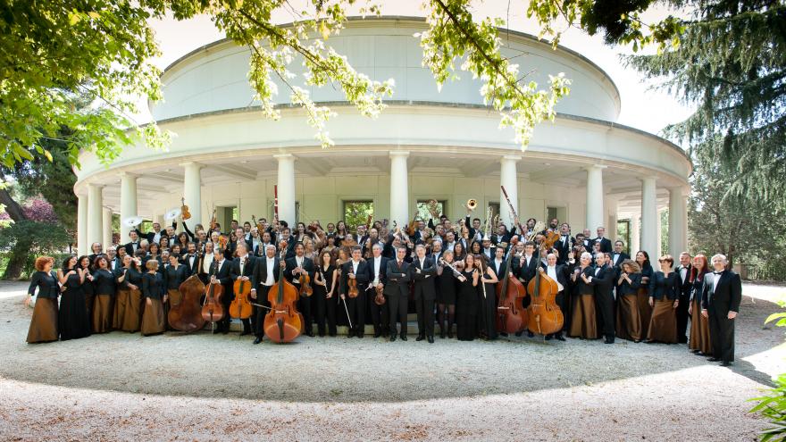
[[[284,246],[281,246],[281,243]],[[281,241],[281,261],[287,253],[286,241]],[[297,312],[297,288],[284,278],[283,263],[279,266],[279,280],[267,295],[271,310],[264,316],[264,334],[273,342],[292,342],[303,330],[303,317]]]

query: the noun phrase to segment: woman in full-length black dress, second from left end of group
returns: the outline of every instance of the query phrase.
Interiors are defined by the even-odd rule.
[[[77,257],[69,256],[63,268],[57,271],[57,279],[65,291],[60,296],[60,339],[78,339],[90,336],[90,318],[85,305],[85,272],[77,267]]]

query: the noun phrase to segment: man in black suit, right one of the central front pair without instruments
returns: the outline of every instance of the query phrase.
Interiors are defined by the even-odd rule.
[[[434,288],[434,275],[437,266],[426,257],[426,247],[422,244],[415,246],[415,259],[410,266],[410,274],[414,280],[414,304],[418,316],[418,337],[416,341],[429,339],[434,343],[434,301],[437,292]]]

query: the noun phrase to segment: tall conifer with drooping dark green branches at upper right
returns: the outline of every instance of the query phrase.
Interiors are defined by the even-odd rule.
[[[626,61],[696,112],[665,129],[698,161],[719,162],[726,196],[786,207],[786,4],[675,2],[693,12],[672,51]],[[739,202],[739,200],[738,200]]]

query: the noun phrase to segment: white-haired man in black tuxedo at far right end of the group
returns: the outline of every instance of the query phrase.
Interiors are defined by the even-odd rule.
[[[713,357],[708,361],[721,361],[724,367],[734,361],[734,320],[742,302],[740,275],[726,270],[727,264],[723,254],[715,254],[712,257],[715,271],[707,273],[701,290],[701,314],[709,319],[713,345]]]

